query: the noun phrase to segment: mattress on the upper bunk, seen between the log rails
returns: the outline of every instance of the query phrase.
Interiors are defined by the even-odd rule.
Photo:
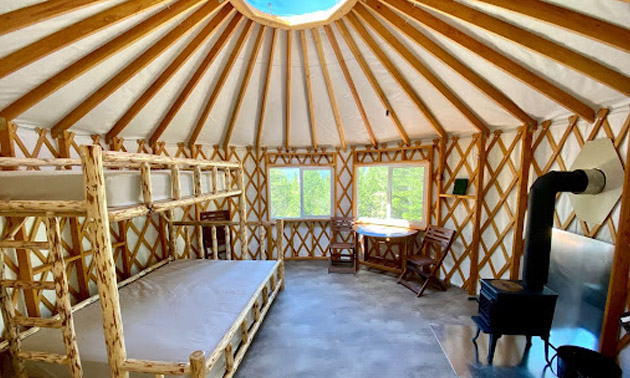
[[[225,188],[224,177],[217,178],[217,190]],[[180,172],[182,197],[194,194],[193,173]],[[170,170],[151,171],[154,201],[172,198]],[[109,207],[131,206],[143,202],[142,179],[138,171],[105,171]],[[210,193],[212,173],[202,172],[201,192]],[[80,171],[3,171],[0,172],[0,201],[82,201],[85,199],[83,173]]]

